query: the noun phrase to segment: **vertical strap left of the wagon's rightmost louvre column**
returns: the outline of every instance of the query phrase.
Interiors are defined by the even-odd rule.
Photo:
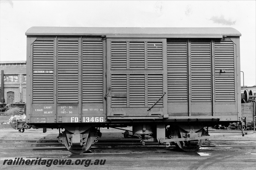
[[[212,116],[215,116],[215,56],[214,56],[214,41],[211,41],[211,63],[212,63]]]

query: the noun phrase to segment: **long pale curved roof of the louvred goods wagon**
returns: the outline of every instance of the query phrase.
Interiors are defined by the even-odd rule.
[[[87,35],[125,37],[131,35],[157,36],[241,36],[241,33],[230,27],[211,28],[140,28],[140,27],[31,27],[26,35]]]

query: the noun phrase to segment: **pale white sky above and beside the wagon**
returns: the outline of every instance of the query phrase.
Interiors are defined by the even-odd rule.
[[[26,60],[32,26],[233,27],[240,37],[245,85],[256,84],[256,1],[0,0],[0,61]]]

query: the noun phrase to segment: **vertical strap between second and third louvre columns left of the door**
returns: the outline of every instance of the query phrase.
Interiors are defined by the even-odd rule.
[[[78,40],[78,112],[79,112],[79,122],[82,121],[82,99],[83,99],[83,86],[82,86],[82,70],[83,70],[83,60],[82,60],[82,48],[83,48],[83,41],[82,37],[79,37]]]

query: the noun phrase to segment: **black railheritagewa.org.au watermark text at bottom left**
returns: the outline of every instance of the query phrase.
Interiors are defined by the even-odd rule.
[[[105,165],[106,159],[4,159],[3,165],[45,165],[47,167],[52,165],[84,165],[85,167],[90,165]]]

